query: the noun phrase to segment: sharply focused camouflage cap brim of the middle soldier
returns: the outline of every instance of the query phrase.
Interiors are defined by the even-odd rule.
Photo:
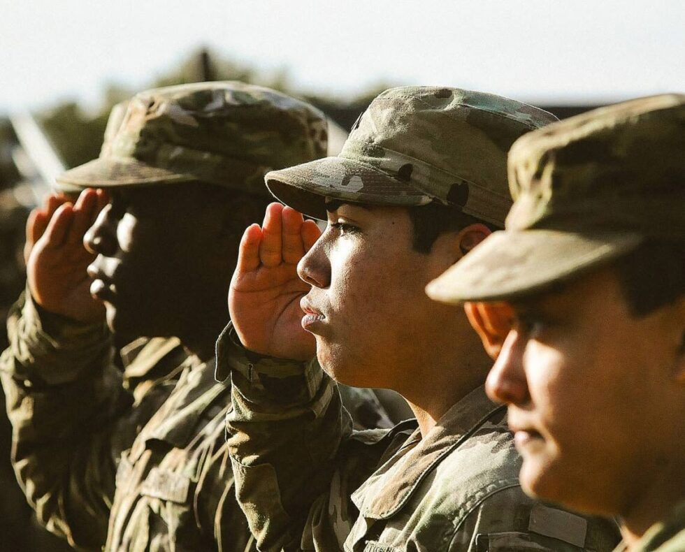
[[[372,166],[345,157],[324,157],[266,173],[266,187],[285,205],[326,219],[326,198],[410,207],[426,205],[431,197]]]

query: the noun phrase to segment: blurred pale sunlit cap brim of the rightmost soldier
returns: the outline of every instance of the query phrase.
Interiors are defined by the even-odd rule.
[[[426,286],[442,303],[513,300],[635,249],[642,235],[556,230],[498,231]]]

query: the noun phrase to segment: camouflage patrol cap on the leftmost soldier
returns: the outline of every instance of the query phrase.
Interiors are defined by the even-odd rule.
[[[147,90],[115,106],[98,159],[57,178],[63,190],[202,180],[267,194],[264,174],[326,154],[319,110],[243,82]]]

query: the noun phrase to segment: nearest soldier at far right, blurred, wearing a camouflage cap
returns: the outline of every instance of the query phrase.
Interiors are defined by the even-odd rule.
[[[512,147],[507,228],[428,288],[496,358],[527,493],[619,516],[617,550],[685,550],[685,95]]]

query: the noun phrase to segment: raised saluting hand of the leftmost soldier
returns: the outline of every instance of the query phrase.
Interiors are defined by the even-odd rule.
[[[107,204],[104,191],[87,189],[76,203],[50,194],[43,208],[31,211],[24,259],[31,297],[43,309],[80,322],[104,319],[104,305],[90,295],[86,268],[95,258],[83,235]]]

